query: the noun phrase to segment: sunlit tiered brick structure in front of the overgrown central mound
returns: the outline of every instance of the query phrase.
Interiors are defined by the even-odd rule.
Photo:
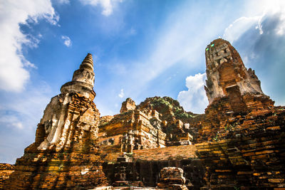
[[[155,114],[146,115],[140,110],[123,112],[100,125],[100,146],[105,154],[112,151],[133,152],[133,149],[165,147],[166,134],[162,132],[161,125],[162,121]]]

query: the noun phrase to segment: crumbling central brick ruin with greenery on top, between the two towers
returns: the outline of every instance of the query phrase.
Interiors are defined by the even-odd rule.
[[[128,98],[122,103],[120,114],[100,119],[99,142],[103,152],[132,153],[134,149],[191,144],[192,135],[177,119],[180,115],[192,117],[170,97],[148,98],[138,106]]]

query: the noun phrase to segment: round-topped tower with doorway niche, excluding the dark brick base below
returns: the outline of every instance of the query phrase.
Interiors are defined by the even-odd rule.
[[[274,102],[261,90],[254,70],[247,69],[237,50],[221,38],[212,41],[205,51],[207,65],[206,94],[211,105],[227,97],[234,112],[247,112],[273,106]],[[254,106],[252,107],[252,102]],[[257,104],[257,102],[259,104]]]

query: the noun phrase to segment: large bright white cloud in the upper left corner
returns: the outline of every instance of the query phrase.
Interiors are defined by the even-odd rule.
[[[36,23],[38,19],[56,24],[58,16],[49,0],[0,0],[0,18],[0,90],[19,92],[30,77],[28,68],[36,67],[24,58],[22,46],[36,47],[39,42],[22,33],[19,24]]]

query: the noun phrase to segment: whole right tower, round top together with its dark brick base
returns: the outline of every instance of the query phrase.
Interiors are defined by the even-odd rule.
[[[192,122],[199,129],[195,146],[206,167],[204,188],[284,188],[279,181],[285,167],[284,107],[274,107],[227,41],[211,44],[205,88],[210,104],[204,117]]]

